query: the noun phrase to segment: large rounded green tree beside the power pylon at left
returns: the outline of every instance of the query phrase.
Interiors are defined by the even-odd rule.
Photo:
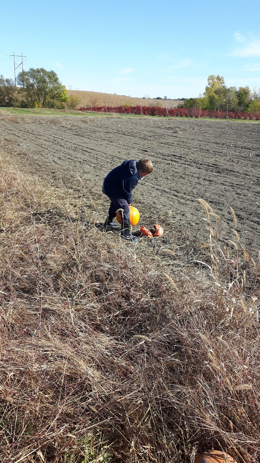
[[[24,87],[29,106],[63,107],[62,102],[68,100],[67,90],[54,71],[30,68],[20,72],[17,81]]]

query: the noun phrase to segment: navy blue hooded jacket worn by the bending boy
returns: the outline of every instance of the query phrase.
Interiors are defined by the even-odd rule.
[[[112,199],[124,198],[130,204],[132,189],[142,178],[136,164],[135,159],[131,159],[131,161],[124,161],[121,166],[111,170],[105,177],[103,193]]]

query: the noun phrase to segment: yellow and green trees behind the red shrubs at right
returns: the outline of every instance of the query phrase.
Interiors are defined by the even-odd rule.
[[[209,75],[204,94],[200,94],[197,98],[188,98],[184,104],[179,107],[191,108],[201,106],[202,110],[220,109],[221,111],[238,112],[260,112],[260,88],[251,90],[246,87],[227,87],[224,77],[220,75]]]

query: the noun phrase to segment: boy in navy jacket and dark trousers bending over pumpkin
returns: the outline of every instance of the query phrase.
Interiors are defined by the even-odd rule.
[[[149,159],[140,159],[136,162],[124,161],[121,166],[111,170],[105,177],[102,192],[111,200],[108,217],[105,220],[104,228],[108,226],[116,227],[113,219],[116,217],[116,211],[121,215],[121,236],[127,241],[135,242],[137,238],[132,235],[130,227],[130,204],[132,201],[132,190],[136,187],[139,180],[153,172],[153,164]]]

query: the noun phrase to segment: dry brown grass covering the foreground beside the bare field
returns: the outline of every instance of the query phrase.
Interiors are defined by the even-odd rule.
[[[188,463],[211,448],[260,461],[249,298],[260,264],[241,268],[232,247],[227,260],[211,222],[208,277],[169,224],[127,246],[92,225],[105,199],[79,179],[80,198],[50,188],[8,149],[0,142],[1,461]]]

